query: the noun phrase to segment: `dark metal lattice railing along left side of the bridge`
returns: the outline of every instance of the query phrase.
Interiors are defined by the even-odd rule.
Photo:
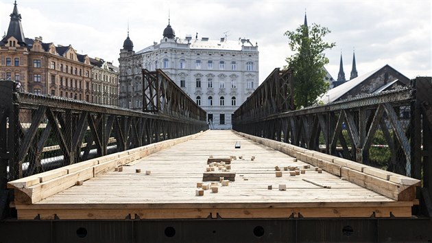
[[[208,129],[206,113],[191,102],[182,111],[170,104],[141,112],[24,93],[16,85],[0,81],[0,191],[16,178]],[[163,99],[189,98],[170,92]]]

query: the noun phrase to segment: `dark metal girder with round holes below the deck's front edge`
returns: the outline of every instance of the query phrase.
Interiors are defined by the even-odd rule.
[[[8,220],[0,242],[431,242],[430,229],[429,218]]]

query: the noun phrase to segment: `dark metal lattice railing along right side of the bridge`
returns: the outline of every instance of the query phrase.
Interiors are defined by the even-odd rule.
[[[275,109],[272,89],[290,86],[280,84],[289,80],[267,78],[261,84],[267,88],[235,111],[233,129],[421,179],[422,190],[432,196],[430,77],[396,91],[297,111]]]

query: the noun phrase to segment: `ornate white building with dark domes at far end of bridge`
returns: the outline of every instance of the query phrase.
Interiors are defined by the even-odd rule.
[[[168,22],[160,43],[135,52],[123,43],[119,106],[142,109],[141,69],[162,69],[207,112],[211,128],[230,129],[231,116],[259,85],[258,45],[250,40],[178,38]]]

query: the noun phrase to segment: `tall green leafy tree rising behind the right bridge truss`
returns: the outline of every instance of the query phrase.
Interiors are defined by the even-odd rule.
[[[326,27],[315,23],[308,27],[305,23],[296,31],[287,31],[289,47],[295,53],[287,57],[289,68],[293,71],[293,98],[296,108],[311,106],[317,97],[328,89],[324,81],[326,71],[324,65],[328,63],[324,51],[335,47],[335,43],[326,43],[322,38],[330,33]]]

